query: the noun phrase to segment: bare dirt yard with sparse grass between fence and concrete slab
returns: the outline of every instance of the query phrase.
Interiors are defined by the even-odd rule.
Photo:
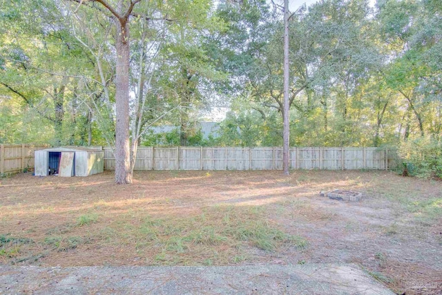
[[[319,191],[363,192],[361,202]],[[0,179],[0,263],[357,263],[403,294],[442,294],[442,182],[386,171],[146,171],[132,185]]]

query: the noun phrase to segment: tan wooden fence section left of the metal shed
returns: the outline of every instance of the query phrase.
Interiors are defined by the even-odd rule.
[[[0,175],[34,168],[34,151],[48,146],[32,144],[0,144]]]

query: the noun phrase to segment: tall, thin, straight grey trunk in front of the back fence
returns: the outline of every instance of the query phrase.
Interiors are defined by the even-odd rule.
[[[282,168],[289,175],[289,0],[284,0],[284,131],[282,131]]]

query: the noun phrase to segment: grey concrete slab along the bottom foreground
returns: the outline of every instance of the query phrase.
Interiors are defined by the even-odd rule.
[[[356,265],[0,266],[0,294],[388,294]]]

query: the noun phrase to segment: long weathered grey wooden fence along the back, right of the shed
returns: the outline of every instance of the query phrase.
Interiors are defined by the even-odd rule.
[[[395,154],[395,153],[394,153]],[[390,156],[392,152],[390,151]],[[387,149],[374,147],[291,148],[290,169],[388,169]],[[389,164],[390,161],[390,164]],[[104,169],[115,169],[110,148],[104,148]],[[135,170],[276,170],[282,169],[281,147],[154,147],[140,146]]]

